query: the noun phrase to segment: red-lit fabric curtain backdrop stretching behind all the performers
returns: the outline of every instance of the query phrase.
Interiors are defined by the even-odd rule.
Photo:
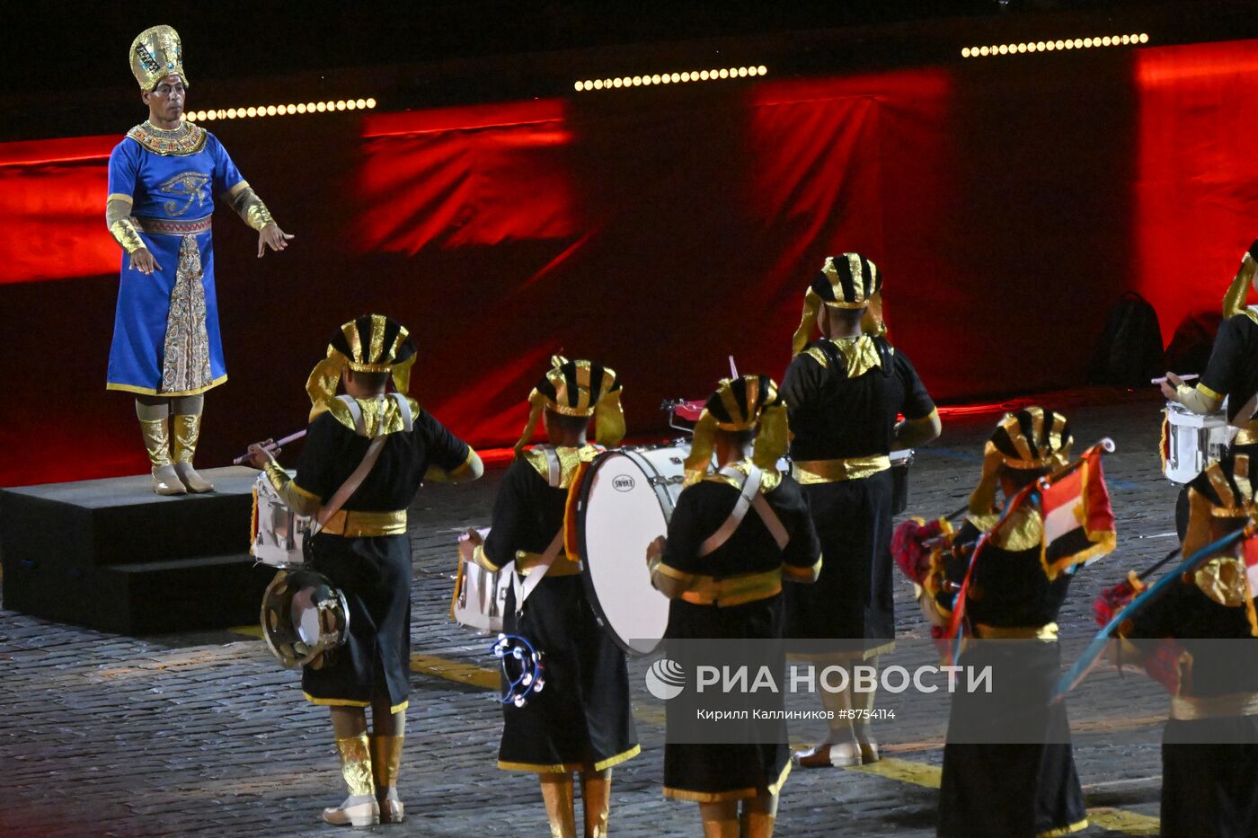
[[[781,375],[843,250],[879,264],[936,398],[1078,385],[1122,291],[1169,336],[1258,234],[1253,47],[211,125],[298,238],[258,260],[220,210],[231,377],[199,462],[301,427],[307,372],[365,311],[411,327],[413,394],[474,444],[515,440],[552,352],[615,367],[630,432],[664,433],[659,401],[706,395],[727,355]],[[0,146],[0,484],[145,468],[130,400],[103,390],[116,141]]]

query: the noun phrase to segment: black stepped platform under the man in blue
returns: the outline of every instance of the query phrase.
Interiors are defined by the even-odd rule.
[[[252,468],[161,497],[120,477],[0,489],[4,606],[123,634],[258,620],[274,569],[249,556]]]

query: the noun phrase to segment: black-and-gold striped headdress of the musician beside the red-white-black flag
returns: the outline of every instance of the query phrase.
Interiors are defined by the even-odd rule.
[[[1057,471],[1071,459],[1071,423],[1047,408],[1006,413],[982,449],[982,477],[970,494],[970,515],[996,511],[1001,468]]]

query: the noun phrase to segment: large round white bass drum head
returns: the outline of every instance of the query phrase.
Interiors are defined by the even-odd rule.
[[[668,598],[650,585],[647,545],[668,532],[679,464],[676,471],[672,493],[658,493],[650,478],[673,474],[659,474],[658,463],[645,457],[609,452],[591,463],[580,487],[576,535],[585,591],[599,623],[633,656],[654,652],[668,627]]]

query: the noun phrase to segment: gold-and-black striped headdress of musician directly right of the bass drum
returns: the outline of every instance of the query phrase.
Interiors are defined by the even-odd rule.
[[[686,458],[686,484],[707,473],[717,430],[749,429],[756,429],[752,463],[761,471],[776,471],[788,444],[786,404],[777,394],[777,384],[767,375],[721,379],[694,425],[691,455]]]

